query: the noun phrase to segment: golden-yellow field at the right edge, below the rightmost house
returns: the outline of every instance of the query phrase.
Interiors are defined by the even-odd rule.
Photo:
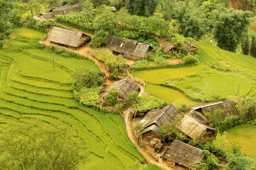
[[[239,125],[227,130],[228,147],[227,152],[231,151],[231,143],[238,141],[242,146],[241,152],[246,153],[249,158],[256,160],[256,126],[252,124]]]

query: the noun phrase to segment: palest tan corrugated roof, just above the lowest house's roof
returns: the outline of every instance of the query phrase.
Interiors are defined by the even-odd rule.
[[[192,139],[195,139],[202,134],[205,129],[216,130],[207,124],[200,123],[200,120],[195,117],[186,115],[181,120],[180,130]]]

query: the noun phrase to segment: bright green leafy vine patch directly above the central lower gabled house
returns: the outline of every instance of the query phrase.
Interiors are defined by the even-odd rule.
[[[139,96],[138,101],[134,104],[134,109],[138,111],[148,111],[154,109],[160,109],[167,105],[166,101],[157,99],[154,96],[147,95],[147,96]]]

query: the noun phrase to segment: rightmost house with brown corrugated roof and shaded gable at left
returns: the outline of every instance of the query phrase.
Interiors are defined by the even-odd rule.
[[[213,114],[214,111],[223,109],[225,110],[224,114],[221,115],[222,120],[224,120],[228,115],[239,115],[236,106],[232,100],[230,101],[213,101],[209,103],[204,103],[202,105],[197,105],[190,107],[190,115],[200,119],[201,122],[208,123],[207,118],[204,116],[204,113]]]

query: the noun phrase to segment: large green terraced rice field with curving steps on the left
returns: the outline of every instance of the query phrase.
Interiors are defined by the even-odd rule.
[[[88,145],[88,156],[79,169],[128,169],[144,160],[127,136],[122,116],[104,115],[73,99],[70,73],[82,67],[99,71],[98,66],[90,60],[55,56],[53,71],[47,51],[0,50],[0,123],[31,117],[68,123]]]

